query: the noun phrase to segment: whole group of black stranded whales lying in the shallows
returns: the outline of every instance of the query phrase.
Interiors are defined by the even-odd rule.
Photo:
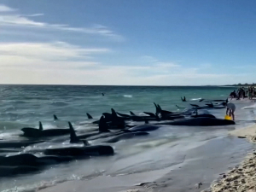
[[[186,102],[185,97],[182,100]],[[213,102],[218,103],[213,104]],[[158,130],[161,125],[235,125],[236,123],[233,120],[218,119],[204,111],[207,108],[224,108],[227,102],[226,100],[212,100],[209,101],[209,104],[203,106],[191,104],[192,108],[185,109],[182,112],[163,110],[159,104],[154,103],[155,113],[143,112],[144,115],[136,115],[131,111],[129,114],[119,113],[111,108],[111,113],[102,113],[100,119],[90,122],[97,125],[97,129],[87,131],[84,134],[77,134],[71,122],[67,122],[68,128],[45,130],[42,123],[39,122],[38,128],[24,127],[20,130],[23,132],[20,136],[25,137],[26,140],[0,142],[0,177],[39,172],[45,166],[86,159],[91,156],[113,155],[113,147],[108,143],[118,143],[133,137],[146,137],[150,134],[150,131]],[[87,117],[93,120],[89,113],[87,113]],[[54,115],[54,120],[58,120],[56,115]],[[144,124],[131,125],[129,124],[131,121],[143,121]],[[69,135],[69,138],[66,137],[67,135]],[[65,137],[65,140],[69,139],[70,145],[61,148],[23,150],[27,146],[53,141],[53,137]],[[103,139],[102,143],[106,144],[90,145],[90,141],[96,139]],[[73,143],[81,145],[73,146]],[[40,154],[37,154],[38,152]]]

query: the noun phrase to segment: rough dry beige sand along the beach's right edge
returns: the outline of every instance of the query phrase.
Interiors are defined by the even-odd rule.
[[[251,143],[256,143],[256,125],[245,129],[230,131],[236,137],[247,139]],[[233,170],[224,174],[217,183],[213,183],[211,192],[256,192],[256,153],[248,154],[246,159]]]

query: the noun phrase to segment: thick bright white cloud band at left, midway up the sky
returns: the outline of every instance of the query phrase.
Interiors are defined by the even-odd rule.
[[[18,58],[24,58],[23,60],[35,59],[43,61],[86,59],[90,58],[93,54],[107,53],[109,51],[111,50],[102,48],[84,49],[64,42],[0,43],[1,64],[12,62],[12,60],[19,60]]]

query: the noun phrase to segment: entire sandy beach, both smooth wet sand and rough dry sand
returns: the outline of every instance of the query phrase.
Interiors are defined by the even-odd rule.
[[[215,129],[212,128],[212,131]],[[224,132],[223,137],[202,141],[201,145],[181,154],[183,157],[174,166],[165,169],[115,176],[102,174],[89,180],[44,183],[37,191],[255,192],[256,153],[252,143],[256,143],[256,125],[227,129]],[[212,135],[212,132],[209,134]]]

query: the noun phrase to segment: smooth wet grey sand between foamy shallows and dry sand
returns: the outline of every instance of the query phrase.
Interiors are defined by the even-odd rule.
[[[230,149],[232,148],[232,149]],[[40,192],[199,192],[208,189],[227,165],[236,166],[252,150],[251,144],[237,137],[217,137],[186,153],[175,166],[129,175],[102,175],[90,180],[75,180],[49,187]],[[47,187],[46,189],[44,189]]]

